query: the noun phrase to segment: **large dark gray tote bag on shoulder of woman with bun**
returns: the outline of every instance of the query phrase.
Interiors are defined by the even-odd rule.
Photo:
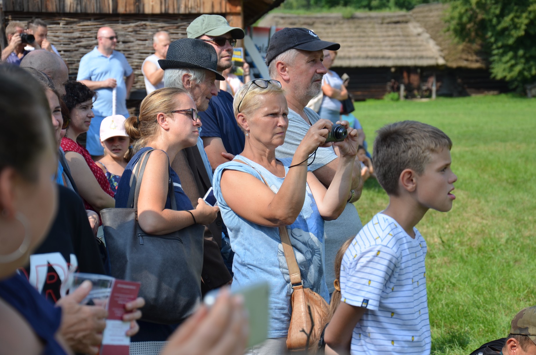
[[[101,211],[106,247],[110,254],[111,276],[142,283],[140,297],[145,299],[142,320],[180,323],[193,313],[201,300],[203,233],[205,227],[191,225],[180,231],[153,235],[138,224],[138,196],[143,173],[152,150],[139,159],[130,178],[127,206]],[[173,182],[168,194],[177,210]]]

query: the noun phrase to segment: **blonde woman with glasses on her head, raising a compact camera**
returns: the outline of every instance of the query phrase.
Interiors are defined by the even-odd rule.
[[[255,354],[286,354],[292,286],[282,249],[279,226],[286,226],[303,287],[329,301],[324,278],[324,220],[344,210],[358,147],[356,130],[349,128],[340,150],[337,172],[330,187],[316,179],[307,161],[326,144],[332,123],[311,126],[292,159],[277,159],[276,147],[285,142],[287,101],[277,80],[255,79],[234,98],[236,121],[244,131],[244,151],[214,172],[214,195],[221,209],[233,252],[232,289],[259,280],[270,284],[267,341]]]

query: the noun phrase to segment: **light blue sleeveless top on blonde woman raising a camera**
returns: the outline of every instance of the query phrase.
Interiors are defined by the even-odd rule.
[[[247,162],[244,165],[235,160]],[[240,155],[235,160],[220,165],[214,172],[212,187],[220,206],[221,217],[227,226],[231,248],[233,249],[232,290],[266,281],[270,285],[269,338],[286,337],[291,319],[292,286],[288,275],[287,262],[277,227],[265,227],[252,223],[229,208],[221,194],[221,174],[225,169],[245,172],[263,181],[261,175],[274,193],[279,191],[283,178],[278,178],[256,162]],[[280,159],[285,166],[285,175],[291,158]],[[329,293],[324,278],[324,220],[318,212],[309,186],[303,208],[293,224],[287,226],[300,267],[303,287],[309,287],[329,301]]]

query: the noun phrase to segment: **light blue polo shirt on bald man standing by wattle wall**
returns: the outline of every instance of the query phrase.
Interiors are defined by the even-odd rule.
[[[81,58],[76,79],[100,82],[108,78],[114,78],[117,81],[116,114],[128,117],[129,112],[126,109],[126,84],[123,77],[128,77],[131,73],[132,68],[130,68],[129,63],[122,53],[114,50],[107,57],[95,47],[90,53],[87,53]],[[111,98],[113,89],[111,87],[102,87],[95,91],[98,93],[98,97],[93,104],[93,113],[95,116],[110,116],[112,112]]]

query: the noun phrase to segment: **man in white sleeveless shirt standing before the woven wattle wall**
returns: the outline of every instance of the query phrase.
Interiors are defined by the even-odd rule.
[[[154,54],[151,54],[142,64],[142,74],[145,80],[145,90],[147,95],[151,92],[164,87],[164,71],[158,65],[159,59],[166,59],[167,49],[171,40],[169,33],[158,31],[153,36]]]

